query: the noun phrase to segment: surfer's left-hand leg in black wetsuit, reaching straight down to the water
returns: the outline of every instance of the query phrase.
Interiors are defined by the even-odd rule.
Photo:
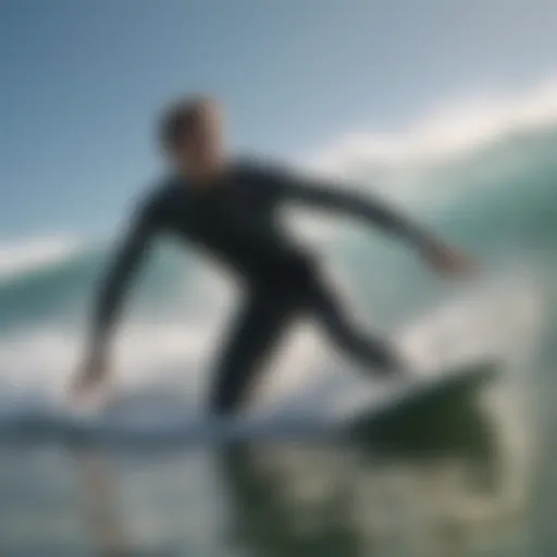
[[[246,401],[293,313],[294,305],[287,298],[272,293],[249,297],[219,355],[210,394],[210,407],[214,413],[233,413]]]

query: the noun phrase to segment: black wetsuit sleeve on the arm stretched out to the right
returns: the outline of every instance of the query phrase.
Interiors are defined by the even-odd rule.
[[[284,201],[349,214],[403,237],[420,249],[428,249],[434,243],[429,232],[386,202],[324,180],[282,175],[274,182],[274,194]]]

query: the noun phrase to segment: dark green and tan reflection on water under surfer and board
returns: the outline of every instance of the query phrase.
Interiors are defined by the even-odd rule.
[[[234,539],[261,556],[473,555],[486,535],[512,531],[523,502],[478,408],[437,420],[373,443],[223,450]]]

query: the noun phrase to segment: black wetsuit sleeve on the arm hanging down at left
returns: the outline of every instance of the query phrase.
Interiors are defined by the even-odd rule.
[[[132,278],[144,259],[146,248],[156,231],[157,210],[150,203],[133,216],[129,228],[116,248],[111,267],[94,308],[91,345],[94,349],[102,347],[111,325],[120,312]]]

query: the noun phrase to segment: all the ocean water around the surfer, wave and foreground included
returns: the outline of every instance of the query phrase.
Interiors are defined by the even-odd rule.
[[[72,413],[64,389],[110,250],[0,246],[0,555],[556,555],[557,126],[515,106],[504,126],[480,126],[484,115],[436,150],[418,126],[336,166],[473,253],[476,277],[451,283],[379,233],[285,215],[363,325],[399,343],[418,374],[500,362],[473,404],[388,449],[330,435],[393,386],[331,351],[312,323],[293,331],[238,423],[207,418],[236,293],[175,246],[151,255],[126,308],[114,400]]]

